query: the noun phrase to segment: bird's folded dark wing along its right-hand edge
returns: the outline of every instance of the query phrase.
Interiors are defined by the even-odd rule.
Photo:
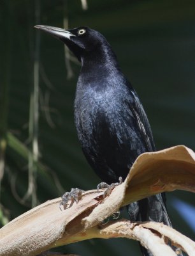
[[[147,115],[143,109],[143,106],[136,95],[136,92],[132,92],[134,95],[134,106],[133,109],[133,115],[136,118],[136,121],[138,123],[138,127],[140,128],[141,136],[143,138],[143,141],[145,141],[147,150],[150,151],[155,151],[155,145],[154,145],[154,140],[152,136],[152,131],[150,128],[150,124],[148,122]]]

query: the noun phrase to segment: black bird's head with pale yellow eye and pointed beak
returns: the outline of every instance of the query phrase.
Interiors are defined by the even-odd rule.
[[[88,27],[62,29],[38,25],[35,26],[35,28],[41,29],[64,42],[79,61],[81,61],[84,56],[96,52],[102,45],[109,45],[106,38],[101,35],[101,33]]]

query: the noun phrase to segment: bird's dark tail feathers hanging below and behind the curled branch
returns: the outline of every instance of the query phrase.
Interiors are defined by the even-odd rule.
[[[138,202],[133,202],[127,205],[127,212],[131,221],[155,221],[163,222],[165,225],[172,227],[168,212],[166,209],[166,198],[164,193],[148,198],[141,199]],[[152,253],[141,246],[141,253],[143,256],[153,256]],[[171,246],[177,252],[177,255],[182,256],[179,248]]]

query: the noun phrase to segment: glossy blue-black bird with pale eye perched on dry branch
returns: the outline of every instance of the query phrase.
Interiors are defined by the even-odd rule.
[[[60,39],[82,63],[75,97],[78,140],[90,166],[104,182],[124,180],[135,159],[155,150],[147,115],[137,93],[122,74],[106,38],[87,27],[36,26]],[[164,194],[128,205],[132,221],[171,226]],[[143,255],[152,255],[145,248]]]

